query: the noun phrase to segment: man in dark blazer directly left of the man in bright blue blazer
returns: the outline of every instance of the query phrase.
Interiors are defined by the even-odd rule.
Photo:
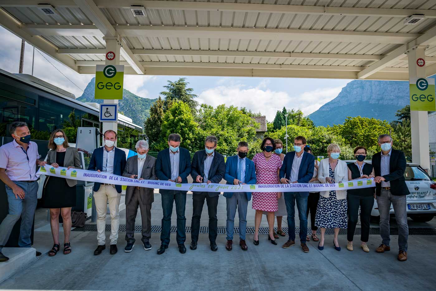
[[[218,139],[209,135],[204,141],[204,149],[195,152],[191,163],[191,177],[193,183],[219,183],[224,177],[224,156],[216,152]],[[193,213],[191,222],[191,246],[197,249],[198,234],[200,233],[200,218],[203,211],[204,200],[208,204],[209,213],[209,241],[212,251],[218,250],[216,238],[218,236],[217,206],[219,192],[197,192],[192,194]]]

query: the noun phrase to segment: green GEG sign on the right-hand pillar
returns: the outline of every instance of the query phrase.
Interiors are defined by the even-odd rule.
[[[435,79],[412,78],[409,90],[410,110],[436,111]]]

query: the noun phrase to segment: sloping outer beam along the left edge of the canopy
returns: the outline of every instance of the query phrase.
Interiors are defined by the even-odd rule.
[[[74,59],[68,55],[59,55],[57,53],[57,47],[40,36],[32,36],[27,34],[26,31],[21,29],[21,24],[18,23],[13,17],[7,14],[3,9],[0,9],[0,25],[6,28],[8,31],[17,35],[19,38],[24,39],[35,48],[39,49],[47,55],[50,55],[53,59],[64,64],[68,68],[79,72],[79,67],[75,64]]]

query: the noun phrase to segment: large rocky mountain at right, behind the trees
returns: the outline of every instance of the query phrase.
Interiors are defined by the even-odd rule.
[[[396,111],[408,104],[408,81],[353,80],[309,118],[317,126],[342,124],[347,116],[359,115],[390,122],[397,120]]]

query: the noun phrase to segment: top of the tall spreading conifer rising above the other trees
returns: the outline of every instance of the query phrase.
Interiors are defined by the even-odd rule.
[[[189,106],[193,114],[197,112],[198,102],[194,98],[198,96],[192,94],[194,89],[187,88],[188,84],[186,78],[180,78],[176,82],[167,81],[167,85],[164,86],[167,91],[160,92],[160,95],[164,96],[164,111],[167,111],[173,102],[182,101]]]

